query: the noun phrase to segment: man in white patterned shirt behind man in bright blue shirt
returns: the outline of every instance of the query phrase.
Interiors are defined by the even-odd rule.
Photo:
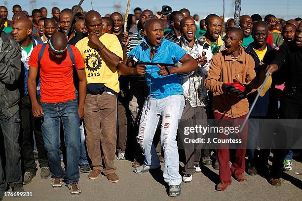
[[[210,67],[212,53],[211,48],[207,43],[196,39],[196,25],[192,17],[185,17],[180,25],[182,37],[181,41],[177,44],[191,57],[196,59],[199,66],[191,73],[179,75],[184,88],[186,105],[180,119],[178,134],[183,142],[186,155],[186,163],[183,169],[183,182],[190,182],[192,180],[192,175],[195,172],[201,171],[199,167],[201,147],[200,144],[196,147],[194,143],[184,143],[184,139],[188,137],[185,135],[185,128],[195,127],[195,125],[206,126],[206,105],[208,96],[203,82]],[[198,138],[196,133],[190,136],[193,136],[193,139]]]

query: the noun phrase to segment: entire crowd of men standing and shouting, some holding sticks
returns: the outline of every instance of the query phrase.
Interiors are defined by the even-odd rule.
[[[80,7],[73,18],[75,11],[53,7],[47,18],[45,7],[29,15],[14,5],[10,21],[0,6],[0,192],[23,192],[34,180],[36,150],[40,178],[51,176],[53,188],[65,182],[72,195],[81,193],[79,171],[118,182],[115,158],[133,161],[138,174],[163,163],[169,196],[179,196],[202,165],[219,169],[218,191],[232,176],[247,182],[245,171],[281,186],[293,152],[257,142],[261,119],[301,115],[301,18],[242,15],[236,28],[215,14],[198,22],[186,8],[169,15],[135,8],[125,24],[118,12],[102,17]],[[186,128],[208,119],[238,126],[261,87],[236,150],[183,143]]]

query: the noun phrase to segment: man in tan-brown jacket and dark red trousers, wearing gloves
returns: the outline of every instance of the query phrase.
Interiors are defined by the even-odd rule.
[[[205,87],[214,92],[213,111],[214,118],[219,120],[219,127],[240,128],[242,120],[249,112],[249,103],[246,94],[257,88],[255,62],[253,58],[244,52],[241,47],[243,32],[238,28],[232,28],[225,37],[226,49],[216,54],[210,63],[208,78]],[[238,121],[241,120],[241,121]],[[226,140],[218,145],[219,177],[221,183],[217,190],[226,190],[231,184],[231,174],[239,182],[246,182],[243,175],[245,170],[245,147],[248,126],[239,133],[234,134],[242,142],[238,143],[235,151],[235,159],[229,168],[229,150],[227,133],[219,133],[220,139]]]

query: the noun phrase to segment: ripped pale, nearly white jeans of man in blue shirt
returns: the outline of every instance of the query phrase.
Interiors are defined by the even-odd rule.
[[[142,109],[137,141],[145,155],[145,165],[151,169],[160,166],[152,141],[159,118],[162,117],[160,142],[165,158],[163,177],[169,186],[179,185],[182,182],[182,177],[178,172],[176,133],[184,106],[184,96],[173,95],[163,99],[147,98]]]

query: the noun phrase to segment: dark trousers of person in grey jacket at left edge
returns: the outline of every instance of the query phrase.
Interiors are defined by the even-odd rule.
[[[12,117],[7,119],[0,112],[0,127],[3,134],[4,152],[6,164],[2,164],[0,157],[0,190],[4,190],[7,184],[21,184],[21,154],[18,143],[20,134],[20,115],[16,112]],[[5,173],[2,167],[5,167]]]

